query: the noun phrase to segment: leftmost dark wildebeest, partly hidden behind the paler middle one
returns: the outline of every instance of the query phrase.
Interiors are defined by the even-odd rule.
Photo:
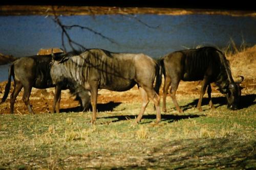
[[[30,93],[32,87],[45,89],[50,87],[55,87],[52,83],[50,76],[50,62],[52,61],[51,55],[40,55],[40,56],[30,56],[22,57],[14,61],[9,67],[8,83],[5,86],[5,93],[0,104],[6,101],[8,93],[11,86],[11,76],[14,80],[14,90],[10,96],[10,110],[13,114],[14,102],[20,90],[24,88],[23,101],[27,106],[29,113],[34,114],[29,102]],[[65,83],[65,82],[63,82]],[[90,104],[90,96],[88,91],[81,90],[80,87],[68,86],[66,84],[59,83],[55,87],[54,102],[53,102],[53,112],[55,111],[55,106],[57,103],[56,112],[59,112],[59,101],[60,101],[60,91],[61,89],[69,88],[72,94],[76,95],[80,102],[81,107],[88,107]]]

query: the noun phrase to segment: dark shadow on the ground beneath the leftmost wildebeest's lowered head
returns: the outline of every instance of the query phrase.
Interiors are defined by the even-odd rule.
[[[97,110],[98,112],[104,112],[104,111],[113,111],[115,107],[119,106],[121,102],[109,102],[105,104],[97,104]],[[90,106],[88,109],[84,111],[89,111],[92,110],[92,106]],[[77,107],[72,107],[72,108],[67,108],[67,109],[60,109],[60,112],[80,112],[80,106]]]

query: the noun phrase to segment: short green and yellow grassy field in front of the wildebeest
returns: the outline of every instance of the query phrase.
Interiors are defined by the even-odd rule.
[[[91,112],[0,115],[0,169],[253,169],[255,96],[243,98],[240,110],[219,97],[216,110],[203,112],[188,98],[180,101],[184,114],[167,100],[158,125],[152,102],[139,125],[140,102],[113,103],[97,125],[88,123]]]

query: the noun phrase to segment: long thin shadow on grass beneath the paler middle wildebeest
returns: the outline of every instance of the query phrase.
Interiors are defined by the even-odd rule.
[[[115,115],[115,116],[109,116],[109,117],[101,117],[101,118],[117,118],[117,120],[113,120],[111,122],[119,122],[122,120],[129,120],[129,119],[134,119],[135,116],[137,115]],[[205,115],[196,115],[196,114],[191,114],[191,115],[173,115],[173,114],[162,114],[161,115],[161,120],[168,120],[168,123],[175,122],[180,119],[187,119],[187,118],[196,118],[200,116],[205,116]],[[142,119],[156,119],[155,114],[147,114],[143,115]],[[155,121],[155,120],[153,120]],[[148,122],[147,122],[148,123]],[[140,124],[147,124],[147,123],[140,123]]]

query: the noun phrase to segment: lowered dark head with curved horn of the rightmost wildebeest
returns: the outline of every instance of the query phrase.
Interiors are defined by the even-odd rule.
[[[241,98],[241,90],[244,87],[240,86],[240,83],[244,80],[243,76],[239,76],[240,80],[230,83],[227,89],[227,108],[231,110],[237,110]]]

